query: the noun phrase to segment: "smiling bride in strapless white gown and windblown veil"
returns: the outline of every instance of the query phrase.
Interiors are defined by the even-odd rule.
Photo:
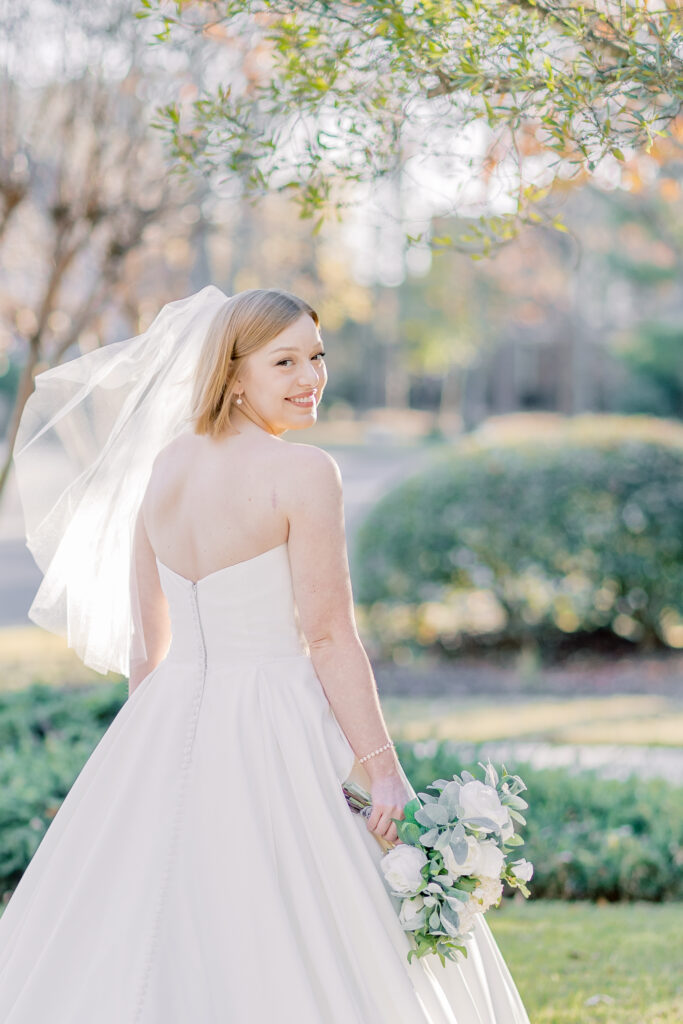
[[[0,918],[3,1024],[528,1024],[483,919],[466,959],[407,959],[379,861],[415,791],[339,469],[284,436],[326,383],[306,302],[212,286],[36,378],[30,615],[129,697]]]

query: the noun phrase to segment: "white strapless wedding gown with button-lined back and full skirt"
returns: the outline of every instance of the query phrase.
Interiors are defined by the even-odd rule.
[[[197,583],[158,564],[169,652],[0,919],[1,1024],[528,1024],[483,920],[466,961],[409,965],[287,544]]]

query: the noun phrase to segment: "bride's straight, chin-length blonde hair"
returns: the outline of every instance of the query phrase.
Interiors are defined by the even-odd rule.
[[[216,437],[222,433],[230,422],[232,392],[243,361],[303,313],[319,327],[317,313],[307,302],[271,288],[238,292],[221,306],[195,371],[190,419],[196,434]]]

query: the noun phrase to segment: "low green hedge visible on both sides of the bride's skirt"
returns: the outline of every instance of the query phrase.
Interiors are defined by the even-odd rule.
[[[36,684],[0,695],[0,892],[20,879],[126,695],[125,683],[71,690]],[[435,778],[474,770],[450,753],[447,741],[399,742],[397,753],[418,792]],[[683,790],[507,767],[528,786],[520,855],[535,863],[535,897],[683,897]]]

